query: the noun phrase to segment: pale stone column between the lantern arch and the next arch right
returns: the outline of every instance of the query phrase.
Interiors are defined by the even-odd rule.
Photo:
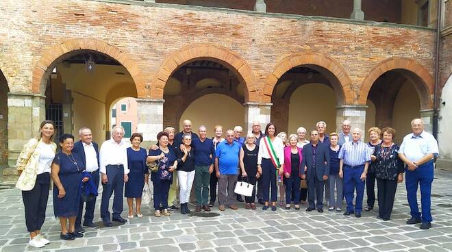
[[[138,105],[137,130],[143,136],[143,142],[157,142],[157,134],[163,130],[164,99],[136,99]],[[143,147],[147,147],[145,143]]]

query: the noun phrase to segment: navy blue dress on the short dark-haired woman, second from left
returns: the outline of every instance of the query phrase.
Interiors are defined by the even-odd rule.
[[[85,170],[81,157],[77,153],[66,155],[60,151],[53,162],[60,165],[58,177],[66,191],[62,199],[58,198],[58,187],[53,184],[53,213],[55,217],[77,216],[81,197],[81,173]]]

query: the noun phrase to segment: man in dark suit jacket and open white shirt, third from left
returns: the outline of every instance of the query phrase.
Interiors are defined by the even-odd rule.
[[[85,171],[91,174],[94,180],[96,188],[99,188],[99,145],[92,142],[91,129],[82,127],[79,129],[78,142],[75,142],[73,152],[78,153],[83,160],[83,165]],[[83,213],[84,201],[80,200],[79,212],[77,214],[77,219],[75,220],[75,231],[84,231],[81,227],[81,215]],[[97,228],[97,225],[92,223],[94,218],[94,210],[96,207],[96,197],[92,201],[86,202],[85,206],[85,221],[83,227],[86,228]]]

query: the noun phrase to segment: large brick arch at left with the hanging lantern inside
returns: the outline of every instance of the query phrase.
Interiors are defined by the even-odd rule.
[[[32,91],[34,93],[44,93],[47,77],[53,68],[52,66],[55,65],[55,61],[60,60],[67,53],[73,53],[79,50],[98,51],[121,63],[134,80],[138,98],[146,96],[145,76],[142,74],[136,60],[130,58],[127,53],[118,47],[92,38],[74,38],[47,49],[34,66]]]

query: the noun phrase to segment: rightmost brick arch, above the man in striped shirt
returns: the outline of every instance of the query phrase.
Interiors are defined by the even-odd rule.
[[[374,66],[361,84],[360,98],[357,102],[359,104],[366,104],[368,93],[374,82],[382,74],[392,70],[399,71],[414,84],[419,95],[420,108],[422,110],[433,108],[435,86],[433,77],[427,68],[416,62],[416,60],[402,57],[388,58]]]

